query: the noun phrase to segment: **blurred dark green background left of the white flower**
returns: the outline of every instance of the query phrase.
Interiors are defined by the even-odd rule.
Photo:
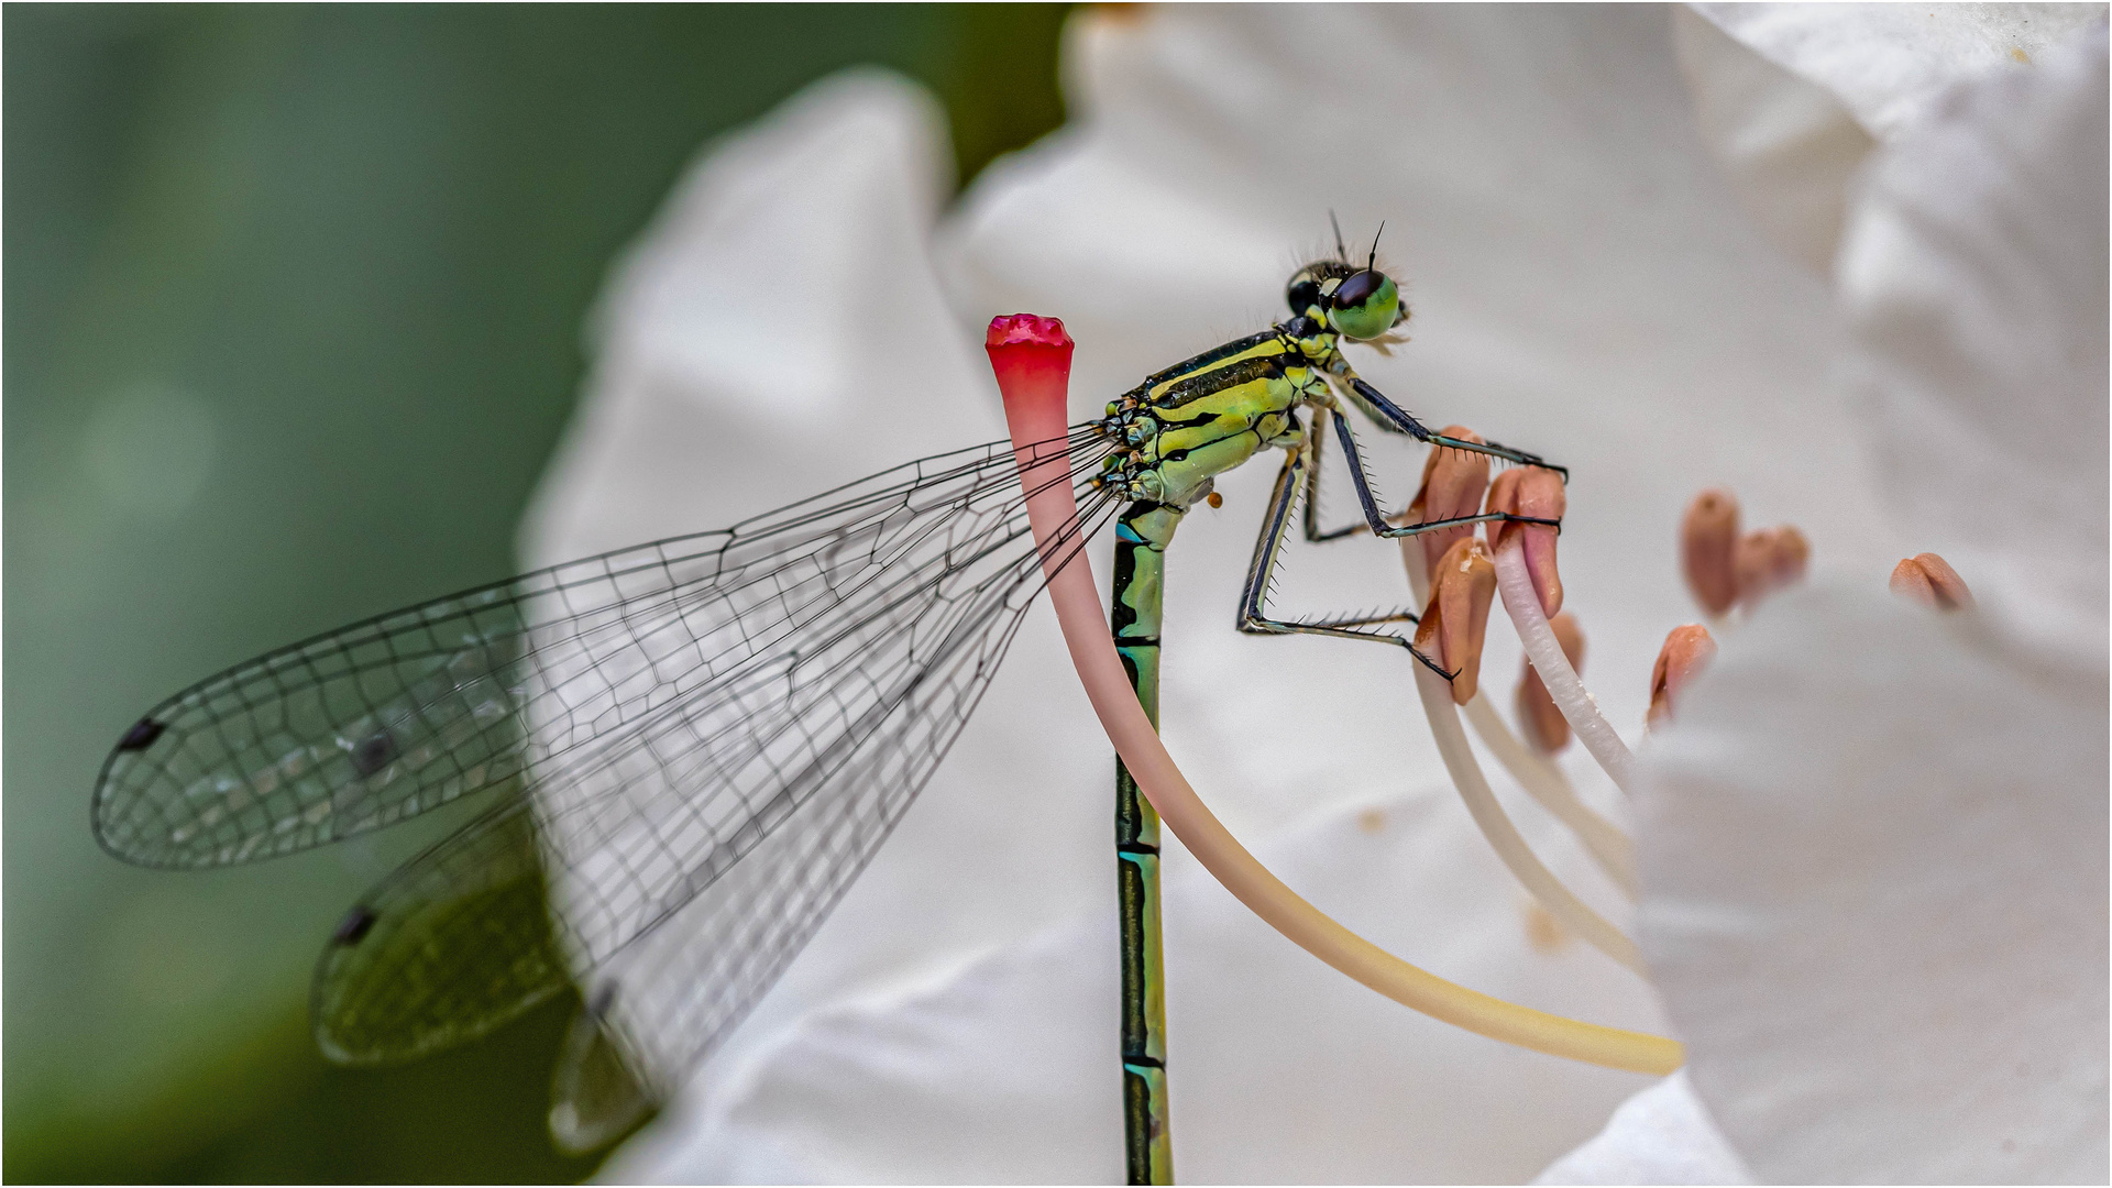
[[[543,1129],[570,1002],[401,1070],[308,1040],[329,928],[446,822],[137,871],[89,837],[95,769],[190,681],[513,569],[587,304],[714,133],[883,63],[944,99],[967,180],[1062,118],[1060,23],[6,6],[8,1180],[593,1171]]]

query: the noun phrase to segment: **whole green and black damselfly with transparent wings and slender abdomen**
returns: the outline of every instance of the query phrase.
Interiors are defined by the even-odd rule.
[[[1153,712],[1164,550],[1219,474],[1286,454],[1240,630],[1413,653],[1392,630],[1415,621],[1407,609],[1271,615],[1297,505],[1314,541],[1514,516],[1388,522],[1343,410],[1548,465],[1432,433],[1352,370],[1343,338],[1383,347],[1409,317],[1375,249],[1356,264],[1337,241],[1286,298],[1286,321],[1037,446],[1067,457],[1079,495],[1060,547],[1117,522],[1115,636]],[[1316,512],[1331,435],[1362,509],[1337,531]],[[551,1125],[598,1146],[682,1084],[798,953],[944,759],[1043,581],[1014,446],[929,457],[234,666],[125,731],[95,835],[131,862],[220,867],[484,793],[338,926],[315,974],[317,1042],[346,1063],[416,1057],[577,985]],[[1119,769],[1117,831],[1130,1169],[1164,1180],[1157,820]]]

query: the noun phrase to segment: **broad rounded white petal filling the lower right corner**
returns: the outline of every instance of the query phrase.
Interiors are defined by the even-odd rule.
[[[2104,1182],[2106,687],[1783,594],[1658,736],[1641,930],[1768,1182]]]

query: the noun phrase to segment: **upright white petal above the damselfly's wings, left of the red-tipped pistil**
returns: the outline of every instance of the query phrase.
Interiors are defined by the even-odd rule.
[[[944,129],[914,82],[851,70],[699,154],[598,302],[593,374],[522,524],[530,564],[1003,435],[925,249]]]

